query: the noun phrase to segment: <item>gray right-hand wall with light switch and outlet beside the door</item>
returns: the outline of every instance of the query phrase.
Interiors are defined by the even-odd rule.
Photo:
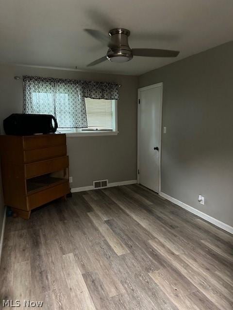
[[[233,42],[139,78],[140,87],[157,82],[167,127],[162,192],[233,226]]]

